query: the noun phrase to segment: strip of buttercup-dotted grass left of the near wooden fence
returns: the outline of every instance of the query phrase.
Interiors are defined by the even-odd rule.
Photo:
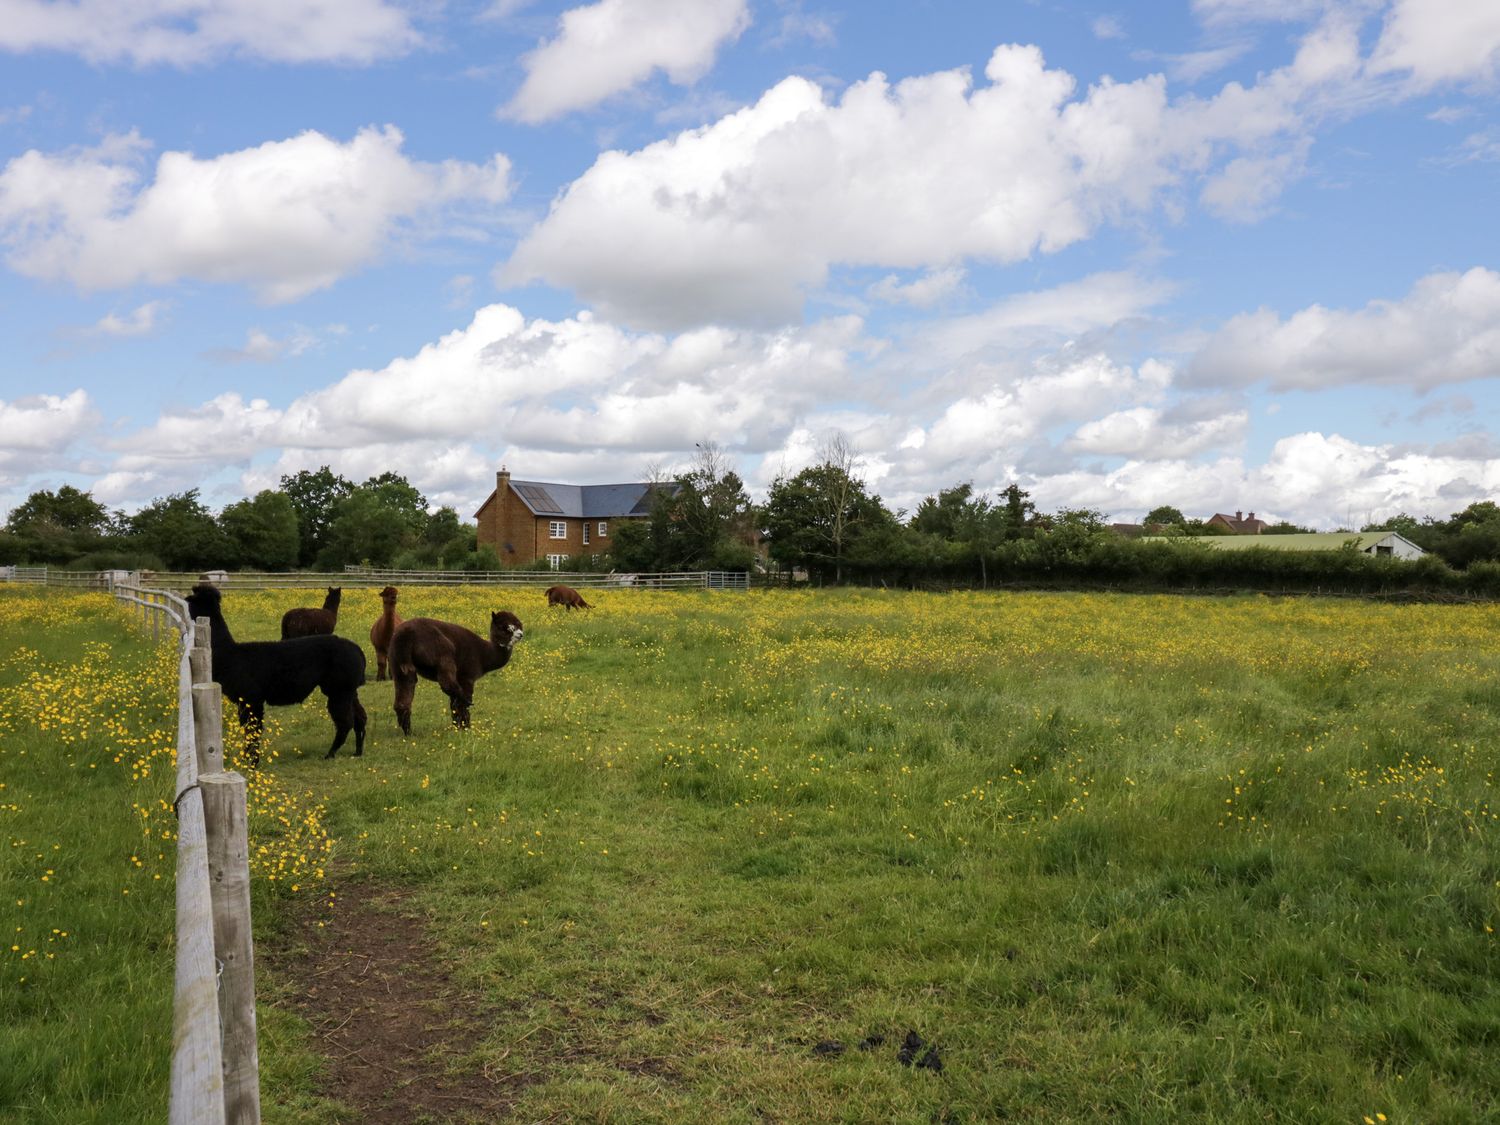
[[[4,591],[0,651],[0,1120],[160,1120],[174,843],[134,806],[171,801],[153,750],[176,740],[176,698],[152,684],[177,664],[108,598],[57,591]],[[74,690],[88,704],[45,710]],[[114,726],[66,722],[82,710]]]

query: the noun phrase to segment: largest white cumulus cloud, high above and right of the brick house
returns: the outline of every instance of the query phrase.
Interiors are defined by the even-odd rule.
[[[1300,171],[1306,102],[1358,70],[1330,22],[1245,88],[1172,102],[1166,80],[1080,93],[1035,46],[966,69],[852,84],[788,78],[754,105],[639,152],[609,152],[500,272],[572,288],[621,322],[784,322],[834,264],[942,270],[1016,262],[1088,238],[1190,183],[1264,210]],[[1242,164],[1228,164],[1238,153]]]

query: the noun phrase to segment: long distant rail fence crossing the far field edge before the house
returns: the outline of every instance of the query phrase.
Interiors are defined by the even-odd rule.
[[[663,573],[568,573],[560,570],[207,570],[207,572],[124,572],[56,570],[50,567],[0,567],[0,580],[48,586],[87,586],[116,590],[150,585],[153,590],[183,591],[200,582],[220,590],[282,590],[304,586],[550,586],[556,582],[578,590],[748,590],[750,574],[742,570],[681,570]]]

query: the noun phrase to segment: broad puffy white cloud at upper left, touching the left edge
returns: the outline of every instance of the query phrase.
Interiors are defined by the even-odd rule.
[[[394,128],[318,132],[222,156],[164,153],[141,182],[140,138],[27,152],[0,170],[0,240],[28,278],[84,290],[182,279],[286,302],[368,266],[404,224],[498,204],[510,164],[423,164]]]

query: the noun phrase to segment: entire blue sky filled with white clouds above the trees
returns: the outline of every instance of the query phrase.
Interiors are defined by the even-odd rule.
[[[843,435],[888,502],[1500,492],[1500,4],[0,0],[0,508]]]

